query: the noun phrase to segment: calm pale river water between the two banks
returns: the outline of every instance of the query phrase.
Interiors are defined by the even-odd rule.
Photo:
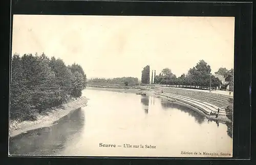
[[[90,99],[88,106],[62,117],[51,127],[11,138],[10,154],[153,157],[209,157],[207,153],[232,155],[232,138],[227,132],[230,126],[208,121],[183,105],[135,93],[86,89],[82,95]],[[100,147],[103,144],[116,147]],[[146,145],[154,147],[146,148]]]

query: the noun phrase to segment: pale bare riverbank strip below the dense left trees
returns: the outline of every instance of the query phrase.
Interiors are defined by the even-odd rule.
[[[63,104],[60,107],[51,108],[45,114],[39,114],[36,121],[18,122],[10,120],[9,135],[10,137],[13,137],[26,131],[51,126],[53,122],[59,120],[61,117],[69,114],[73,110],[86,106],[88,100],[89,99],[86,97],[80,97]]]

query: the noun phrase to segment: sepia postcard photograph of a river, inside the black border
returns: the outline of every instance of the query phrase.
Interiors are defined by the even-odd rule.
[[[232,157],[234,17],[13,15],[9,156]]]

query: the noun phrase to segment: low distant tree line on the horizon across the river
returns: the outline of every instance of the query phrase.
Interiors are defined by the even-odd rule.
[[[121,78],[113,78],[113,79],[105,79],[105,78],[94,78],[89,79],[88,83],[101,83],[101,84],[125,84],[126,86],[129,84],[138,84],[138,78],[134,77],[121,77]]]

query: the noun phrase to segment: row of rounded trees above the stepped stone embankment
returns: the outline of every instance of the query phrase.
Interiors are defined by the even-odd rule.
[[[182,87],[201,89],[209,88],[209,85],[211,84],[211,87],[216,89],[222,85],[222,82],[219,78],[211,75],[210,72],[210,66],[204,60],[200,60],[195,67],[188,70],[186,75],[183,74],[178,78],[172,73],[172,70],[164,68],[159,75],[155,76],[155,83],[165,84],[166,86],[179,85]],[[223,73],[219,74],[223,75]],[[228,84],[232,84],[233,70],[225,70],[224,77]]]

